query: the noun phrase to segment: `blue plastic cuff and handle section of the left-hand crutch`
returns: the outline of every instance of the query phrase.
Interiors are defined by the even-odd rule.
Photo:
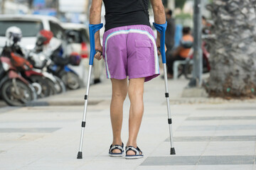
[[[90,33],[90,62],[89,65],[93,64],[93,59],[96,53],[95,50],[95,33],[103,27],[103,23],[99,24],[89,24],[89,33]]]

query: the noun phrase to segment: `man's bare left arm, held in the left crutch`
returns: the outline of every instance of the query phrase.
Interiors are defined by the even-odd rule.
[[[90,7],[90,24],[99,24],[101,20],[102,0],[92,0]],[[102,45],[100,44],[100,30],[95,33],[95,50],[102,52]],[[100,52],[95,54],[97,60],[101,60]]]

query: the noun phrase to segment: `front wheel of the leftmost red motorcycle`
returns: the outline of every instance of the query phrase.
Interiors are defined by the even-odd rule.
[[[9,106],[26,106],[27,103],[35,99],[34,91],[27,84],[16,80],[16,85],[19,95],[16,94],[11,80],[6,81],[1,88],[1,97]]]

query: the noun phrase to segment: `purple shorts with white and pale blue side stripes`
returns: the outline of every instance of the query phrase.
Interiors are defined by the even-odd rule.
[[[103,35],[103,58],[108,79],[157,77],[159,58],[153,30],[149,26],[122,26]]]

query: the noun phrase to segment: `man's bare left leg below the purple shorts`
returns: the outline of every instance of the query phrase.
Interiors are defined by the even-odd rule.
[[[121,130],[123,119],[123,104],[127,96],[127,79],[111,79],[112,100],[110,104],[110,118],[112,123],[113,142],[112,145],[121,145]],[[119,149],[114,149],[113,153],[120,153]]]

